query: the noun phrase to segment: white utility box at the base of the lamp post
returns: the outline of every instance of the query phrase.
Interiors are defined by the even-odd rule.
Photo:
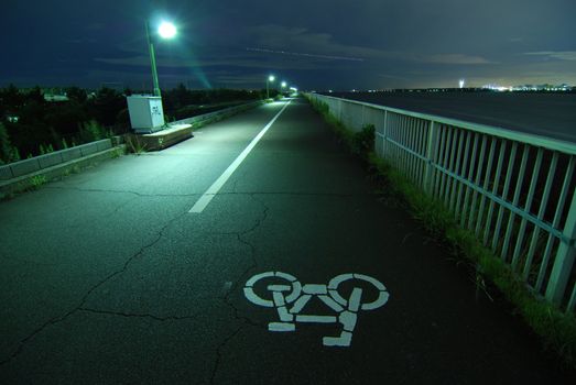
[[[164,128],[162,98],[144,95],[127,97],[130,124],[138,133],[151,133]]]

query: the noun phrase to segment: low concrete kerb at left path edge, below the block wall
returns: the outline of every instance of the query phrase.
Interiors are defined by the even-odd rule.
[[[75,150],[75,148],[69,148]],[[0,198],[10,196],[11,194],[25,191],[30,188],[37,187],[42,184],[45,184],[52,179],[67,176],[69,174],[76,173],[78,169],[83,169],[96,164],[102,163],[116,158],[118,153],[124,153],[126,144],[121,144],[116,147],[110,147],[100,152],[93,153],[87,156],[79,158],[70,160],[65,163],[59,163],[46,168],[36,169],[31,173],[13,177],[9,180],[0,182]],[[90,150],[91,151],[91,150]],[[52,155],[52,154],[48,154]],[[36,158],[31,158],[26,161],[36,161]],[[28,166],[26,166],[28,167]],[[30,169],[33,169],[30,166]]]

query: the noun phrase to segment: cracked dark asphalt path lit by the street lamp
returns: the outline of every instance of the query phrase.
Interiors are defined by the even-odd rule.
[[[302,99],[189,212],[285,103],[1,202],[0,383],[574,384]]]

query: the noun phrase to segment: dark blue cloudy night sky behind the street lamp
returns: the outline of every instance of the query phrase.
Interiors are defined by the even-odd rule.
[[[576,85],[575,0],[2,0],[0,86],[301,89]]]

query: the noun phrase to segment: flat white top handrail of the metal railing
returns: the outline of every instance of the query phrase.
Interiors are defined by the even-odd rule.
[[[576,144],[566,142],[566,141],[562,141],[558,139],[552,139],[552,138],[546,138],[546,136],[542,136],[542,135],[537,135],[537,134],[519,132],[519,131],[514,131],[511,129],[506,129],[506,128],[500,128],[500,127],[495,127],[495,125],[474,123],[474,122],[469,122],[469,121],[465,121],[465,120],[445,118],[445,117],[439,117],[439,116],[430,114],[430,113],[414,112],[414,111],[403,110],[403,109],[394,108],[394,107],[374,105],[374,103],[370,103],[367,101],[337,98],[337,97],[332,97],[332,96],[324,95],[324,94],[316,94],[316,95],[322,96],[323,98],[341,100],[341,101],[346,101],[346,102],[349,102],[352,105],[360,105],[360,106],[370,107],[370,108],[378,109],[378,110],[401,113],[401,114],[405,114],[405,116],[413,117],[413,118],[434,121],[434,122],[441,123],[441,124],[454,125],[454,127],[463,128],[466,130],[470,130],[470,131],[475,131],[475,132],[479,132],[479,133],[483,133],[483,134],[488,134],[488,135],[493,135],[493,136],[498,136],[498,138],[502,138],[502,139],[522,142],[522,143],[531,144],[531,145],[537,146],[537,147],[544,147],[544,148],[548,148],[548,150],[553,150],[553,151],[558,151],[564,154],[576,155]]]

